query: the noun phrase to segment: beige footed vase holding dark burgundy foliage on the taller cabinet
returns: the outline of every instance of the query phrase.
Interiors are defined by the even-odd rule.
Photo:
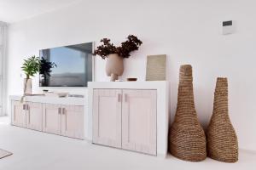
[[[129,35],[127,41],[122,42],[119,47],[115,47],[108,38],[103,38],[101,42],[103,44],[96,48],[94,55],[99,55],[102,59],[107,58],[106,73],[114,82],[119,76],[123,75],[123,59],[129,58],[131,51],[137,50],[143,42],[133,35]]]

